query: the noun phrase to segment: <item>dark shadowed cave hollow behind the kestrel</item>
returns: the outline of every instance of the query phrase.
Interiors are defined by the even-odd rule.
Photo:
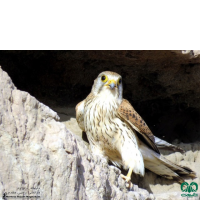
[[[171,50],[1,50],[16,87],[65,121],[105,70],[122,75],[124,98],[153,133],[169,142],[200,141],[200,58]],[[71,108],[71,109],[69,109]]]

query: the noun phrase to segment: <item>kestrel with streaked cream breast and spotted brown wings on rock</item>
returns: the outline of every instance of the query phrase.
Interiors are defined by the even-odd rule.
[[[161,148],[182,151],[156,138],[133,106],[123,99],[122,77],[110,71],[94,80],[91,93],[76,106],[76,119],[86,132],[91,150],[114,165],[128,170],[123,178],[130,183],[132,172],[144,176],[145,168],[179,183],[181,175],[195,172],[164,158]],[[157,143],[156,143],[157,142]]]

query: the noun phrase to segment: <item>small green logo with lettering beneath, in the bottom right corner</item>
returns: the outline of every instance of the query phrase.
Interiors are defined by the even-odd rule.
[[[198,194],[194,193],[198,190],[198,185],[195,182],[190,183],[184,182],[181,184],[182,192],[193,192],[193,194],[181,194],[182,197],[197,197]]]

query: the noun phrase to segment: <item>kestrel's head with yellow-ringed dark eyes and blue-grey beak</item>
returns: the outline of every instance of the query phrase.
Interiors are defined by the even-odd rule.
[[[92,92],[95,95],[110,95],[122,100],[122,77],[110,71],[101,72],[94,80]],[[105,96],[106,98],[106,96]]]

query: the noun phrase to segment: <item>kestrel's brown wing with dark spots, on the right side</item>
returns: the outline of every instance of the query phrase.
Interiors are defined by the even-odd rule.
[[[142,119],[142,117],[135,111],[129,101],[123,99],[118,108],[118,114],[143,136],[147,144],[150,145],[150,147],[152,147],[154,151],[160,153],[155,144],[153,133],[151,132],[145,121]]]

